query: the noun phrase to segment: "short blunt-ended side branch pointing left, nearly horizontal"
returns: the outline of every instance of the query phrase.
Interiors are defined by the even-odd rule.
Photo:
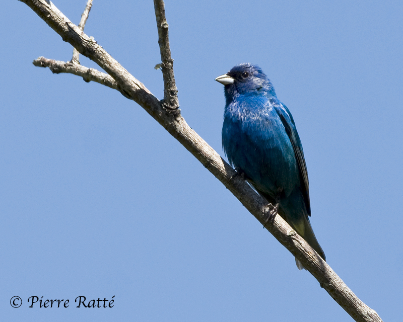
[[[71,61],[60,61],[39,57],[32,62],[37,67],[49,67],[54,74],[69,73],[83,77],[84,81],[91,81],[119,90],[115,80],[108,74],[94,68],[84,67]]]

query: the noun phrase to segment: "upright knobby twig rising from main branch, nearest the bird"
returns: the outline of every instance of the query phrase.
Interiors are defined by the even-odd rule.
[[[154,0],[154,10],[158,28],[158,44],[160,45],[162,60],[160,68],[164,78],[163,106],[169,110],[176,110],[179,108],[178,89],[176,88],[173,73],[173,59],[171,57],[171,49],[169,48],[168,23],[165,19],[163,0]]]

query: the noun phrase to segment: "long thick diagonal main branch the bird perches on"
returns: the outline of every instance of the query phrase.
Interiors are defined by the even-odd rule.
[[[64,41],[80,53],[95,61],[116,81],[118,90],[132,99],[153,116],[174,136],[201,164],[219,179],[260,223],[280,241],[319,281],[330,296],[337,301],[356,321],[381,322],[378,314],[363,303],[324,262],[320,256],[281,217],[265,223],[266,201],[258,195],[220,155],[193,131],[178,110],[167,110],[164,102],[158,101],[147,88],[113,59],[101,46],[84,34],[61,14],[52,3],[45,0],[20,0],[55,30]],[[157,8],[158,9],[158,8]],[[157,11],[157,10],[156,10]],[[156,13],[158,20],[159,14]],[[167,33],[166,33],[167,35]],[[172,73],[173,77],[173,73]],[[164,78],[165,83],[165,78]]]

